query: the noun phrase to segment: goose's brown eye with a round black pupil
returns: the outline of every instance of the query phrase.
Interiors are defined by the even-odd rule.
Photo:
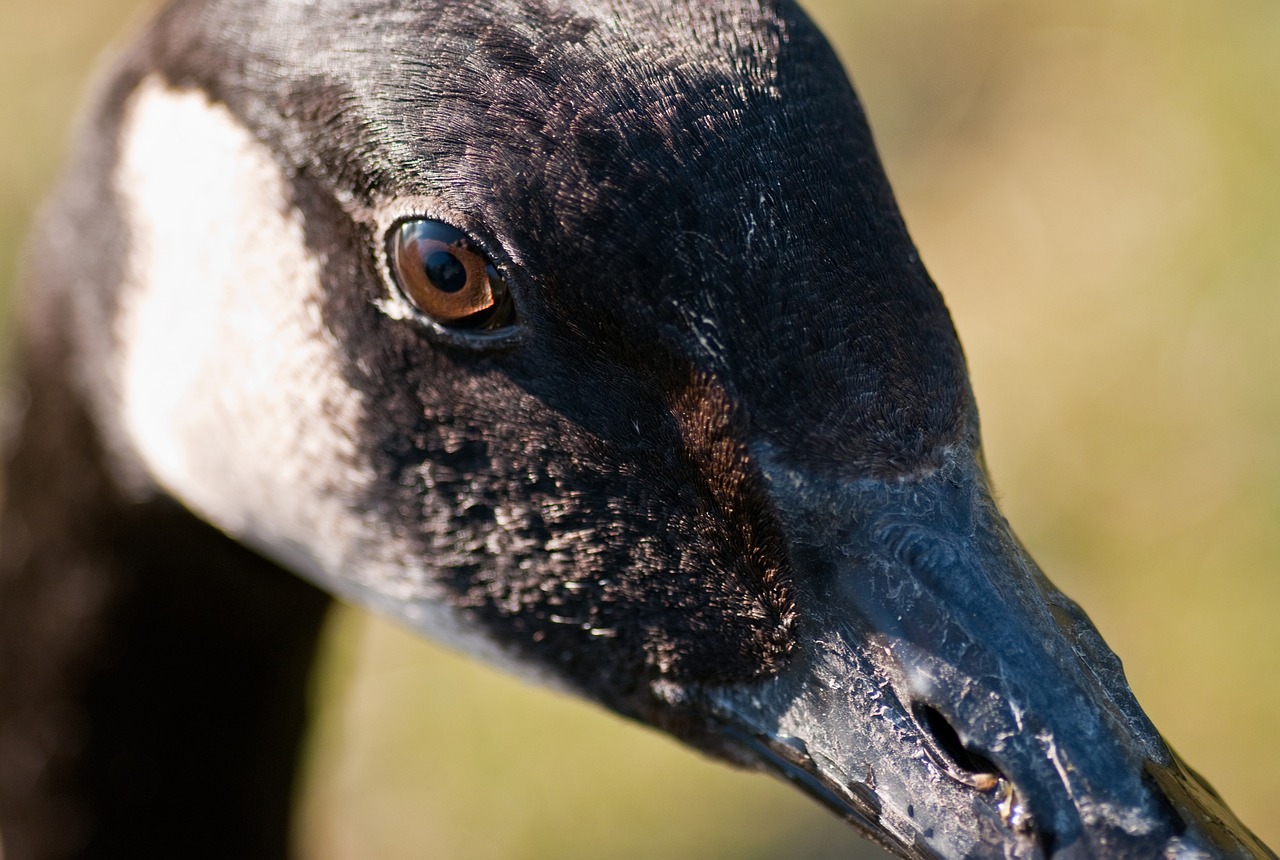
[[[515,321],[507,284],[462,230],[403,221],[392,229],[388,256],[404,297],[440,325],[494,331]]]

